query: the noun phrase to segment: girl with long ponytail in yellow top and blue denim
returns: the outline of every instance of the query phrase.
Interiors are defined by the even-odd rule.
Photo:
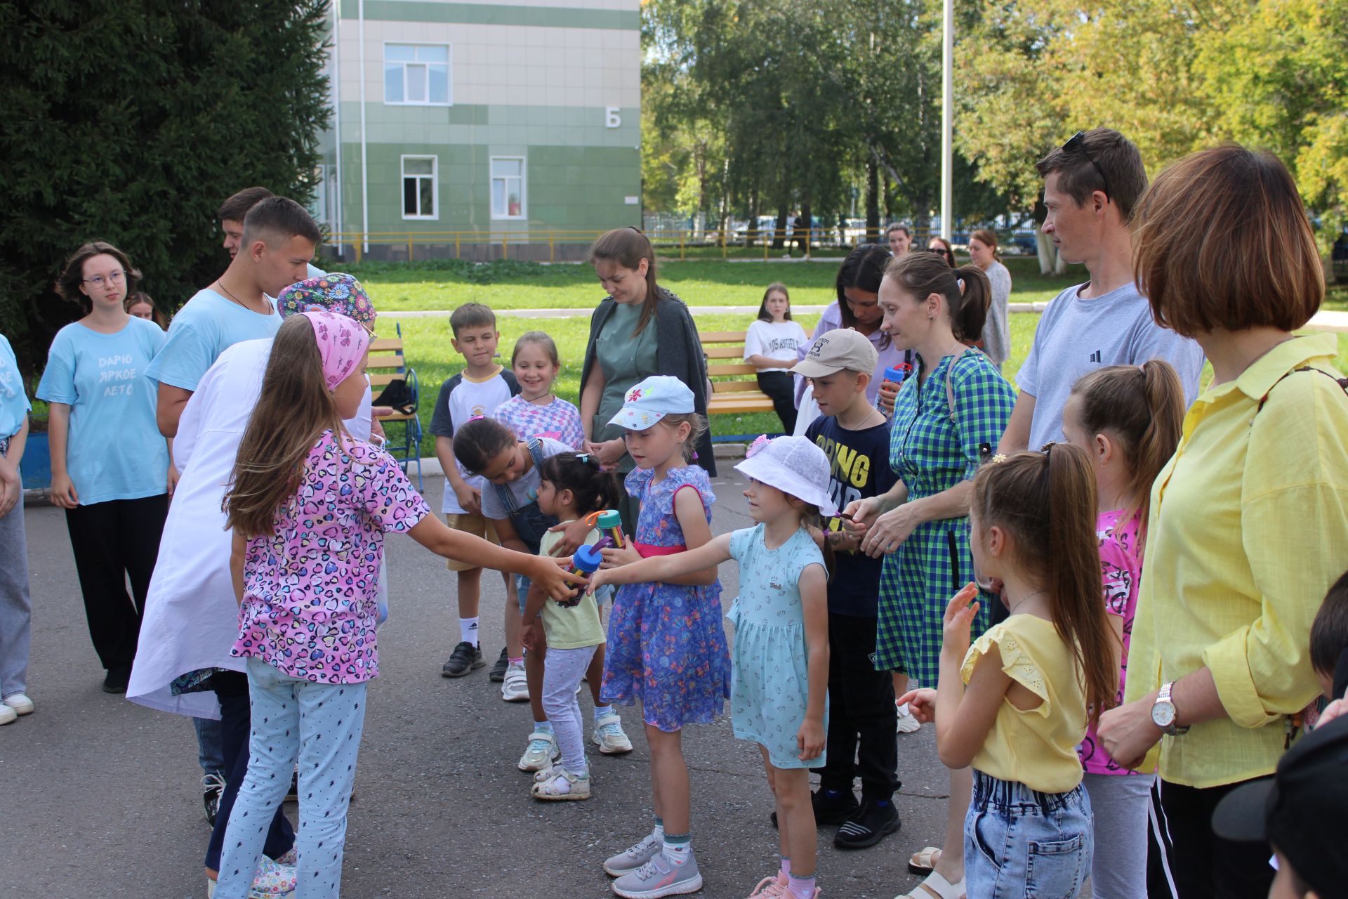
[[[969,646],[973,584],[945,612],[937,690],[902,697],[936,721],[949,768],[973,766],[954,895],[1076,896],[1091,871],[1077,744],[1115,700],[1117,638],[1100,602],[1096,483],[1084,450],[996,456],[973,481],[975,569],[1010,617]]]

